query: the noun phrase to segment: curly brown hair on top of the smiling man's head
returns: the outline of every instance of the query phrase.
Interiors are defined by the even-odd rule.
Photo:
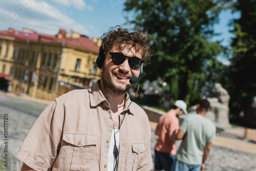
[[[104,56],[104,52],[109,52],[112,48],[124,50],[126,47],[134,48],[136,53],[141,52],[143,60],[149,60],[152,56],[150,47],[151,38],[143,30],[135,30],[129,32],[120,26],[112,27],[109,32],[101,36],[102,45],[99,48],[99,53]]]

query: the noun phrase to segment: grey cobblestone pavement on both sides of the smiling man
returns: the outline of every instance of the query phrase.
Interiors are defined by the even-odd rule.
[[[15,158],[19,147],[31,129],[37,117],[46,108],[46,104],[31,102],[18,99],[15,97],[5,96],[0,94],[0,170],[20,170],[22,161]],[[4,114],[8,114],[8,153],[4,152]],[[237,136],[222,133],[219,136],[238,139]],[[152,156],[154,161],[154,145],[157,136],[152,130]],[[241,140],[242,141],[242,140]],[[177,141],[177,147],[181,141]],[[8,154],[8,167],[5,167],[5,155]],[[256,155],[244,153],[237,150],[237,147],[230,143],[229,147],[220,147],[213,145],[210,156],[206,160],[206,171],[237,171],[256,170]]]

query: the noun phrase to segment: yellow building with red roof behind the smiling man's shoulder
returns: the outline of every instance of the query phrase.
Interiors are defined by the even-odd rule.
[[[95,63],[100,39],[93,41],[76,32],[69,36],[65,30],[54,36],[29,29],[15,32],[14,38],[5,35],[12,38],[10,54],[14,52],[9,55],[13,93],[52,100],[68,91],[88,88],[100,78]]]

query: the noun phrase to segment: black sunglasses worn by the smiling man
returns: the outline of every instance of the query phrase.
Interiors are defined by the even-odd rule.
[[[141,64],[145,62],[144,60],[142,60],[136,56],[134,56],[134,57],[124,56],[120,52],[104,52],[104,54],[110,54],[112,62],[117,66],[121,65],[125,61],[126,57],[129,58],[128,63],[132,69],[139,68],[141,66]]]

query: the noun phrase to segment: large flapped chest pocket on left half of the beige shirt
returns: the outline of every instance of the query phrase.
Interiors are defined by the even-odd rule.
[[[90,170],[96,153],[97,135],[64,133],[59,152],[61,170]]]

